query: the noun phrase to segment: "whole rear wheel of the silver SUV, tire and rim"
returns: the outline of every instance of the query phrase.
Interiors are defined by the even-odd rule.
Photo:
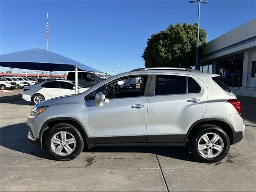
[[[200,162],[215,163],[226,157],[230,140],[224,130],[215,125],[202,125],[188,140],[190,152]]]

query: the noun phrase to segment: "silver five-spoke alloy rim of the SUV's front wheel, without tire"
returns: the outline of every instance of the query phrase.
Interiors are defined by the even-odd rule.
[[[52,150],[60,156],[70,155],[76,148],[76,139],[72,134],[66,131],[61,131],[51,139]]]

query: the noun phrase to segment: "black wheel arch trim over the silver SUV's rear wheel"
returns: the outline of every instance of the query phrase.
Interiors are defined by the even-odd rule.
[[[200,125],[204,125],[204,124],[215,125],[215,126],[218,126],[218,127],[222,128],[226,132],[226,134],[228,135],[228,138],[230,140],[230,145],[233,144],[234,132],[235,132],[234,128],[233,128],[232,124],[224,118],[205,118],[205,119],[200,119],[200,120],[194,122],[192,124],[192,126],[190,126],[190,128],[188,130],[188,133],[186,134],[185,142],[190,138],[192,133]]]

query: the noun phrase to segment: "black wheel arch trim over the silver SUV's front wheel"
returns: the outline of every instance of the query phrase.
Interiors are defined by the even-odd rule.
[[[76,127],[78,131],[81,133],[85,143],[87,144],[88,148],[92,148],[94,145],[92,143],[91,138],[88,137],[86,130],[84,129],[84,126],[82,125],[81,122],[76,120],[75,118],[70,118],[70,117],[60,117],[60,118],[53,118],[50,120],[47,120],[44,122],[43,126],[40,129],[39,133],[39,138],[40,138],[40,146],[41,148],[44,147],[44,140],[47,132],[52,128],[54,125],[59,124],[59,123],[68,123],[71,124],[72,126]]]

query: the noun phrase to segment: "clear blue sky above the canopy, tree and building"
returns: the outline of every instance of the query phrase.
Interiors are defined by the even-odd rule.
[[[152,33],[170,24],[197,23],[198,3],[189,0],[0,0],[0,54],[47,49],[102,72],[142,68]],[[206,41],[254,19],[256,0],[208,0],[201,4],[200,28]],[[0,67],[0,72],[9,68]],[[14,69],[13,72],[19,72]],[[26,72],[26,70],[20,70]]]

